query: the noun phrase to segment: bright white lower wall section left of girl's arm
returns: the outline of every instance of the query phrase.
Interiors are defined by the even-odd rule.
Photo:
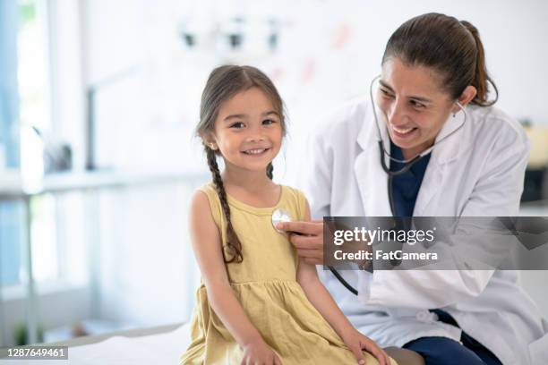
[[[205,180],[205,179],[204,179]],[[186,212],[195,183],[167,183],[102,192],[97,318],[135,327],[190,318],[200,274],[188,237]]]

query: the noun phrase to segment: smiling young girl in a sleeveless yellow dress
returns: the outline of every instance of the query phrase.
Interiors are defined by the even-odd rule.
[[[197,133],[213,182],[192,202],[203,284],[181,364],[395,364],[352,327],[315,267],[271,224],[277,208],[309,219],[303,193],[271,180],[286,133],[282,108],[272,82],[249,66],[218,67],[203,90]]]

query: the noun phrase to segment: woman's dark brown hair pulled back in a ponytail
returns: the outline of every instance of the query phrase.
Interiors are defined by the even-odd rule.
[[[416,16],[392,34],[382,64],[392,57],[407,65],[432,67],[441,75],[441,85],[451,98],[460,97],[468,85],[477,89],[471,104],[492,106],[499,98],[499,90],[485,67],[479,32],[468,21],[440,13]],[[493,100],[487,100],[488,82],[496,93]]]

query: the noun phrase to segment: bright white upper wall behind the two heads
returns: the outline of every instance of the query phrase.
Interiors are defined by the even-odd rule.
[[[295,183],[295,156],[303,152],[296,141],[331,107],[367,95],[370,80],[380,72],[381,55],[391,32],[401,22],[426,12],[472,21],[484,39],[488,68],[501,92],[497,105],[509,115],[548,124],[543,107],[548,81],[544,67],[548,3],[542,0],[390,4],[358,0],[93,0],[85,1],[82,10],[85,80],[95,84],[135,65],[138,69],[105,88],[103,103],[98,106],[99,133],[103,140],[116,140],[117,144],[116,150],[104,152],[105,158],[116,166],[146,164],[146,168],[166,169],[184,162],[189,169],[204,169],[198,143],[192,140],[201,89],[215,64],[233,61],[261,67],[278,85],[291,120],[287,163],[278,164],[287,171],[282,180]],[[227,54],[213,47],[189,51],[178,38],[185,19],[207,28],[219,20],[222,26],[231,14],[252,21],[275,16],[281,23],[278,53]],[[105,98],[113,101],[109,104]],[[139,107],[128,107],[133,105]],[[193,158],[182,161],[181,156]]]

